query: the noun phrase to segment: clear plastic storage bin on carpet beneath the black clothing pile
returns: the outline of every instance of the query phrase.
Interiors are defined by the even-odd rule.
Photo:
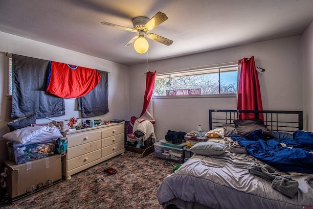
[[[184,162],[184,149],[164,146],[160,141],[154,143],[156,157],[176,163]]]

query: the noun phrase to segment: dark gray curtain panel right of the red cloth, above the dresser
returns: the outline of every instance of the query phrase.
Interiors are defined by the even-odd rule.
[[[108,72],[100,71],[101,79],[98,85],[85,96],[79,97],[79,110],[82,117],[101,116],[109,113],[108,106]]]

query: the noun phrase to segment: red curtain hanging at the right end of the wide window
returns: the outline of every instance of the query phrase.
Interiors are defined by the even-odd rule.
[[[237,110],[263,110],[258,72],[254,57],[238,60]],[[239,119],[260,118],[263,114],[241,113]]]

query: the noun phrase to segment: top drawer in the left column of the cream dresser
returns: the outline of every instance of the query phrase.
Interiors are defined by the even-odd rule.
[[[99,129],[67,134],[67,148],[89,143],[98,139],[101,139],[101,132]]]

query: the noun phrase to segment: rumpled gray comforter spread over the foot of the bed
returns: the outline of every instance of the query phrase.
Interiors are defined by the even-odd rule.
[[[229,139],[220,142],[228,144]],[[313,206],[312,176],[291,176],[279,172],[299,184],[297,194],[290,198],[274,189],[271,182],[247,170],[247,166],[255,161],[254,157],[232,153],[229,148],[221,156],[195,154],[164,179],[157,189],[158,201],[163,206],[175,201],[178,207],[184,208],[186,204],[183,203],[193,202],[212,209],[299,209]]]

